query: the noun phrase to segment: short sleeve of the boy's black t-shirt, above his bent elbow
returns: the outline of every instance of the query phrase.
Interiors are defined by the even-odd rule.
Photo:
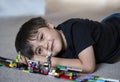
[[[71,31],[73,47],[77,56],[82,50],[95,43],[89,23],[77,21],[72,25]]]

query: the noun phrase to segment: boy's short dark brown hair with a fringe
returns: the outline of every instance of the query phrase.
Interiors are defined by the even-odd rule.
[[[37,30],[42,27],[47,27],[46,21],[42,17],[32,18],[24,23],[16,36],[16,51],[20,52],[21,55],[32,58],[34,53],[32,45],[28,40],[30,40],[30,38],[37,33]]]

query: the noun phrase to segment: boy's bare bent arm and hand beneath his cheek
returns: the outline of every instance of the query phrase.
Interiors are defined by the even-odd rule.
[[[58,65],[69,66],[73,68],[80,68],[82,72],[92,73],[95,70],[95,57],[93,47],[90,46],[84,49],[78,55],[79,59],[66,59],[66,58],[56,58],[51,57],[51,63],[53,67]],[[41,64],[46,61],[46,58],[43,56],[34,56],[35,60],[39,60]]]

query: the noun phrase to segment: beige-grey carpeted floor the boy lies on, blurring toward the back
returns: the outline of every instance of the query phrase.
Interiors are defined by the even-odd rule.
[[[73,0],[75,1],[75,0]],[[43,16],[49,22],[57,25],[69,18],[89,18],[101,21],[105,16],[120,12],[119,0],[91,0],[77,2],[68,0],[47,0],[46,14]],[[103,0],[101,0],[103,1]],[[28,19],[35,16],[0,17],[0,56],[15,59],[14,42],[19,27]],[[94,75],[120,80],[120,61],[114,64],[99,64]],[[46,77],[38,74],[24,73],[14,69],[0,67],[0,82],[68,82],[66,80]]]

